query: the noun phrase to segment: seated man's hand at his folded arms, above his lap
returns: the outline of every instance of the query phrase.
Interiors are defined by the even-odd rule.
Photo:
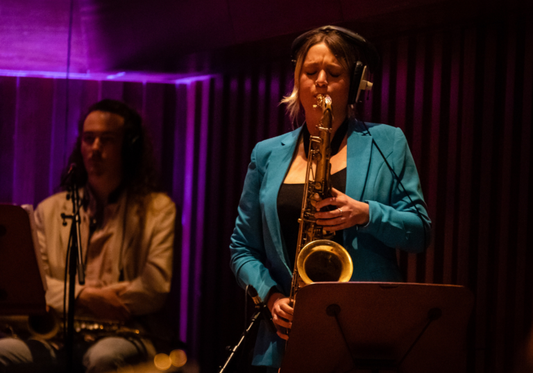
[[[121,301],[117,290],[112,288],[84,288],[77,299],[77,305],[103,320],[126,321],[130,311]]]

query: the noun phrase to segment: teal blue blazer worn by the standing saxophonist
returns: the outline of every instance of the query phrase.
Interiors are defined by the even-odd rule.
[[[344,229],[353,259],[351,281],[403,281],[396,249],[421,252],[430,242],[430,218],[407,140],[399,128],[353,120],[348,124],[346,194],[369,204],[370,221]],[[278,220],[280,186],[301,128],[258,143],[244,181],[231,237],[231,268],[240,286],[252,285],[262,300],[273,287],[289,295],[293,268]],[[396,181],[376,144],[405,187]],[[409,194],[411,200],[407,198]],[[416,213],[416,209],[420,215]],[[262,323],[253,365],[280,367],[285,341]]]

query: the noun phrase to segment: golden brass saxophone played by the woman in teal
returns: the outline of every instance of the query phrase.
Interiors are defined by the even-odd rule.
[[[323,227],[316,225],[314,218],[315,203],[331,196],[331,98],[319,94],[316,100],[315,107],[321,107],[323,115],[319,123],[319,136],[310,137],[302,211],[298,219],[300,228],[292,275],[291,304],[294,304],[298,289],[305,284],[319,281],[346,282],[350,280],[353,272],[350,254],[341,245],[329,239],[335,232],[325,232]],[[316,170],[312,177],[312,164],[315,162]]]

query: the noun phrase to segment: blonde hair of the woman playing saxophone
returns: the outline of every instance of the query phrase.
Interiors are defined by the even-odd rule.
[[[334,30],[319,30],[316,29],[316,33],[310,35],[307,41],[301,46],[300,49],[296,52],[296,66],[294,67],[294,86],[292,87],[292,92],[288,96],[284,96],[280,101],[280,104],[284,103],[287,105],[287,115],[291,119],[292,123],[296,123],[298,115],[300,114],[301,103],[300,103],[300,74],[303,67],[303,62],[307,56],[307,51],[309,49],[320,43],[324,43],[330,51],[335,55],[339,63],[348,71],[348,76],[350,80],[353,76],[353,69],[355,63],[359,60],[359,51],[357,48],[350,44],[338,31]],[[348,116],[353,117],[355,110],[353,105],[348,105]]]

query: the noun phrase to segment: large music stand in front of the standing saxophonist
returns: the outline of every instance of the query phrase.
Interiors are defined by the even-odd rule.
[[[463,286],[316,283],[298,290],[280,373],[466,372]]]

